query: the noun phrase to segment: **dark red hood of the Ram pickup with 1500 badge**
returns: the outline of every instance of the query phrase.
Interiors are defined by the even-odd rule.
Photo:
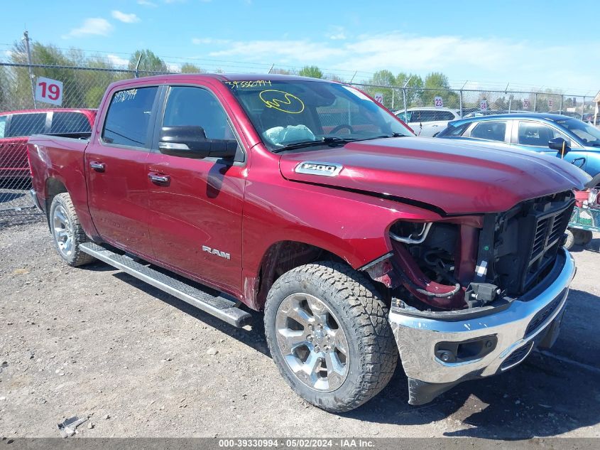
[[[295,172],[303,161],[337,163],[337,176]],[[523,200],[582,189],[589,176],[555,156],[493,144],[400,137],[288,153],[290,181],[390,195],[434,205],[446,214],[495,213]]]

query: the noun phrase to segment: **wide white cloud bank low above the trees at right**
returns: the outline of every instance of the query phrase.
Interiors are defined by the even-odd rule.
[[[589,48],[556,45],[545,41],[517,41],[511,38],[469,38],[464,36],[420,36],[392,31],[348,37],[344,30],[330,28],[327,39],[217,41],[197,39],[195,43],[215,45],[209,55],[246,62],[274,62],[280,65],[317,64],[323,70],[359,70],[373,73],[388,69],[425,76],[445,73],[450,80],[494,80],[528,85],[564,87],[578,92],[598,89],[600,60],[589,60]],[[337,32],[339,31],[339,32]],[[345,40],[342,41],[342,34]],[[332,36],[338,39],[332,39]],[[594,45],[592,45],[594,44]],[[556,65],[560,55],[560,67]],[[584,72],[577,70],[587,60]],[[462,83],[461,83],[462,86]],[[503,88],[503,87],[502,87]]]

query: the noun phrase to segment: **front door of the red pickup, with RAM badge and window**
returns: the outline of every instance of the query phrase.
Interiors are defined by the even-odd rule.
[[[202,127],[207,139],[236,139],[219,100],[203,87],[169,88],[157,127],[177,126]],[[146,177],[156,259],[224,291],[239,292],[245,170],[239,145],[233,161],[193,159],[160,153],[157,138]]]

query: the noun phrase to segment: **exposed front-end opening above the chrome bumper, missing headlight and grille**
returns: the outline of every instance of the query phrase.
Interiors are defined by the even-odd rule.
[[[366,271],[404,308],[453,311],[511,301],[552,269],[573,207],[568,191],[505,213],[400,220],[390,228],[393,254]]]

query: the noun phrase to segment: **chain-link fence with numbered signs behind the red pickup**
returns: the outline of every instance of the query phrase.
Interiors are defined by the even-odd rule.
[[[101,67],[0,63],[0,226],[22,223],[29,215],[37,214],[28,196],[31,187],[28,136],[89,132],[94,109],[111,82],[157,74]],[[393,112],[423,109],[429,113],[420,112],[421,117],[439,115],[440,120],[518,111],[560,112],[589,119],[594,112],[591,97],[567,94],[352,84]],[[447,114],[448,109],[453,110],[452,117],[442,114]]]

